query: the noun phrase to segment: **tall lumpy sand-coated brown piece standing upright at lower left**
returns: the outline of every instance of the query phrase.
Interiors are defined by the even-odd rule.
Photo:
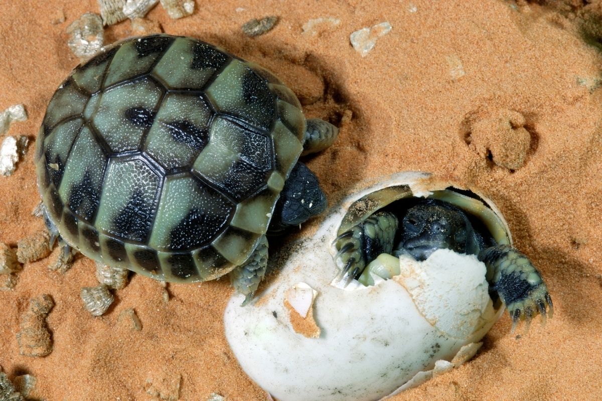
[[[20,331],[17,332],[19,354],[26,357],[43,357],[52,352],[52,340],[46,326],[46,315],[54,307],[48,294],[29,300],[27,311],[21,316]]]

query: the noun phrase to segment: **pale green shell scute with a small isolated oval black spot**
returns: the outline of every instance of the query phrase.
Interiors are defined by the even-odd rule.
[[[102,93],[93,126],[113,152],[138,150],[140,140],[155,119],[163,91],[148,79]]]

